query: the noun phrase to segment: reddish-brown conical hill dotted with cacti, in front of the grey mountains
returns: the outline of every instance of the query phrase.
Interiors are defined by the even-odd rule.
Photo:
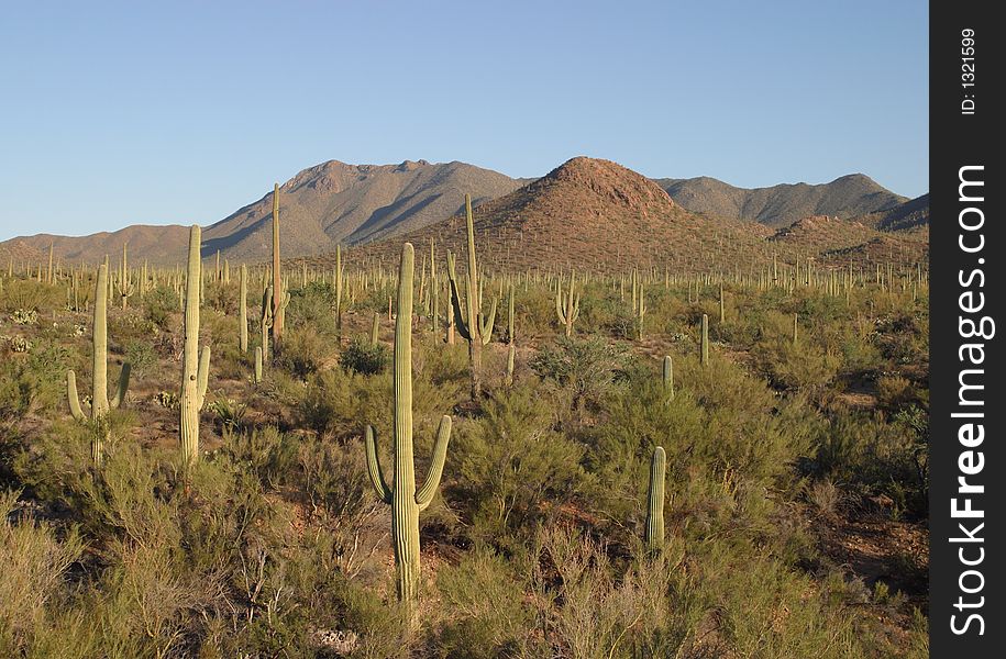
[[[767,255],[771,231],[752,222],[686,211],[655,182],[617,163],[576,157],[546,176],[474,209],[476,250],[488,269],[622,271],[632,266],[732,268],[741,255]],[[353,260],[394,263],[402,242],[420,255],[435,241],[458,253],[463,214],[354,249]],[[424,256],[422,257],[424,258]],[[767,257],[771,258],[771,257]],[[318,265],[328,267],[331,257]],[[318,261],[316,261],[318,263]]]

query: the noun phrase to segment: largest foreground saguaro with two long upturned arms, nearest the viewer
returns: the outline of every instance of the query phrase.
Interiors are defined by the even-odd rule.
[[[422,488],[416,489],[412,465],[412,245],[401,249],[398,276],[398,316],[395,321],[395,479],[385,481],[377,458],[377,431],[367,426],[365,445],[367,473],[382,501],[391,506],[391,536],[398,570],[398,597],[408,618],[414,622],[414,603],[419,595],[419,513],[433,500],[443,473],[447,443],[451,440],[451,417],[444,415],[436,431],[433,460]]]

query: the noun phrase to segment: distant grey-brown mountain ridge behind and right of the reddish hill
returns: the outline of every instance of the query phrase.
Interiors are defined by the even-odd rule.
[[[847,219],[887,211],[907,201],[862,174],[817,186],[784,183],[753,189],[734,188],[709,177],[655,180],[689,211],[711,217],[753,220],[776,228],[812,215]]]

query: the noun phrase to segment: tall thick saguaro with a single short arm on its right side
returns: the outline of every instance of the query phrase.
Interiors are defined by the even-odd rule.
[[[202,264],[199,245],[202,232],[194,224],[189,230],[189,261],[185,276],[185,347],[183,348],[181,401],[178,405],[181,457],[186,467],[199,459],[199,411],[206,401],[210,373],[210,347],[199,354],[199,286]]]

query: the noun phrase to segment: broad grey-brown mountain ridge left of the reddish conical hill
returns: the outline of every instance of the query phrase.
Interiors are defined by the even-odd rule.
[[[329,160],[300,171],[279,188],[280,246],[284,256],[305,256],[378,239],[447,217],[464,194],[476,203],[504,196],[526,181],[465,163],[346,165]],[[202,232],[202,254],[234,260],[263,260],[272,254],[273,192],[245,205]],[[185,258],[188,230],[129,226],[81,237],[40,234],[18,242],[22,249],[55,254],[64,260],[95,263],[121,252],[129,241],[133,263],[172,265]]]

